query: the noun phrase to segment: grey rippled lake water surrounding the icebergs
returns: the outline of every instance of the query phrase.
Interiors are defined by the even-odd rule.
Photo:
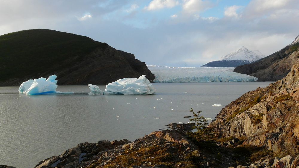
[[[134,141],[171,122],[188,122],[183,117],[190,108],[214,119],[231,101],[270,83],[154,83],[154,95],[98,96],[87,95],[86,85],[57,88],[75,94],[39,96],[0,87],[0,165],[34,167],[86,141]]]

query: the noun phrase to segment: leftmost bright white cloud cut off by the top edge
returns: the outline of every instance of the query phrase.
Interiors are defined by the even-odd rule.
[[[173,8],[179,4],[179,1],[176,0],[152,0],[147,7],[144,7],[146,10],[159,10],[162,8]]]

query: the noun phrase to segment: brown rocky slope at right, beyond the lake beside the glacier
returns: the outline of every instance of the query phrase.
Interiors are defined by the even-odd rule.
[[[234,72],[257,77],[258,81],[277,81],[289,73],[294,64],[299,63],[299,35],[285,48],[254,63],[237,66]]]

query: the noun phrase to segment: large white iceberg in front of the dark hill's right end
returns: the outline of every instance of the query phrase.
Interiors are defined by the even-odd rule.
[[[156,89],[145,75],[137,78],[123,78],[106,85],[104,94],[154,94]]]

